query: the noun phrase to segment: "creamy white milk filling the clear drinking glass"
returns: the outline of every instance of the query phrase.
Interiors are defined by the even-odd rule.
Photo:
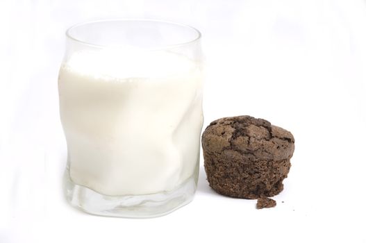
[[[69,174],[120,196],[173,190],[199,160],[201,70],[172,53],[78,52],[61,67]]]

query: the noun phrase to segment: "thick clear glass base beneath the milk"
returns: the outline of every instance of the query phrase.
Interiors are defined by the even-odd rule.
[[[92,215],[148,218],[167,215],[192,201],[197,188],[194,176],[175,190],[146,195],[106,196],[88,187],[75,184],[66,169],[64,190],[67,201]]]

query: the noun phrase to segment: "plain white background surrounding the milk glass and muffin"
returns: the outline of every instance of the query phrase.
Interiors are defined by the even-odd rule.
[[[194,201],[164,217],[95,217],[65,203],[64,33],[107,17],[199,28],[204,128],[252,115],[292,131],[296,149],[276,208],[216,194],[203,160]],[[0,35],[1,243],[366,242],[365,1],[1,0]]]

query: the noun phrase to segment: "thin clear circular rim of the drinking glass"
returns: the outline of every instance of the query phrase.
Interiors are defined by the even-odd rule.
[[[185,45],[188,44],[192,44],[194,42],[197,42],[198,40],[201,39],[201,32],[197,29],[194,28],[193,26],[190,26],[188,24],[179,24],[177,22],[170,22],[170,21],[165,21],[165,20],[160,20],[160,19],[144,19],[144,18],[115,18],[115,19],[97,19],[97,20],[91,20],[91,21],[85,21],[85,22],[80,22],[78,24],[74,24],[73,26],[67,28],[65,35],[69,40],[73,40],[74,42],[78,42],[80,44],[85,44],[88,45],[90,47],[95,47],[95,48],[106,48],[106,47],[110,47],[108,46],[108,44],[94,44],[92,42],[87,42],[85,40],[80,40],[77,37],[74,37],[70,32],[77,27],[80,26],[85,26],[87,24],[94,24],[94,23],[101,23],[101,22],[155,22],[158,24],[172,24],[175,26],[181,26],[183,28],[189,28],[190,30],[194,31],[194,33],[196,34],[192,40],[188,40],[185,42],[178,42],[176,44],[166,44],[164,47],[159,47],[159,48],[152,48],[152,49],[144,49],[147,51],[154,51],[154,50],[164,50],[164,49],[172,49],[172,48],[176,48],[176,47],[183,47]],[[116,48],[118,48],[119,46],[115,46]],[[136,49],[140,49],[139,47],[135,47]],[[143,49],[143,48],[141,48]]]

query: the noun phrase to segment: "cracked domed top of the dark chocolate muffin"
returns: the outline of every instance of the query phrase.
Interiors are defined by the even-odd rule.
[[[265,119],[224,117],[206,128],[202,146],[209,153],[238,151],[249,160],[285,160],[294,153],[294,136]]]

